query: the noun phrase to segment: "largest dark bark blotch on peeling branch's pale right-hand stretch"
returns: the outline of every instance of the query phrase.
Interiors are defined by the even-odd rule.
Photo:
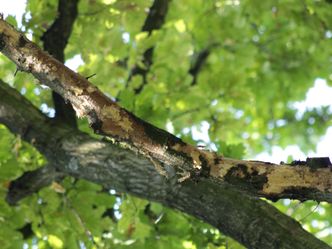
[[[248,185],[257,190],[263,189],[264,184],[268,182],[268,178],[265,174],[259,174],[258,171],[248,171],[248,167],[245,164],[237,164],[229,171],[224,177],[226,182],[231,184]]]

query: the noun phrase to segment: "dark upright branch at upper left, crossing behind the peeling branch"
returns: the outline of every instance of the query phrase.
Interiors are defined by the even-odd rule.
[[[62,63],[65,59],[64,50],[77,16],[78,1],[59,0],[58,16],[41,38],[44,42],[44,50]],[[75,111],[71,104],[66,103],[56,92],[52,92],[52,97],[55,108],[55,119],[77,127]]]

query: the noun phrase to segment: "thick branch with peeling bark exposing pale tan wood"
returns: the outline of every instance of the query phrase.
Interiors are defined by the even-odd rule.
[[[234,160],[199,150],[118,106],[84,77],[41,51],[5,21],[0,20],[2,52],[19,69],[32,73],[69,100],[78,116],[87,117],[97,134],[125,142],[149,158],[161,175],[183,181],[213,178],[273,200],[279,198],[332,200],[332,172],[310,165],[276,165]],[[185,178],[183,177],[185,176]]]

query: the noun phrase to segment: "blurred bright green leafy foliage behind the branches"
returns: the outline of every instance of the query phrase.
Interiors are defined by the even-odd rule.
[[[272,145],[315,149],[331,125],[331,108],[298,115],[292,106],[316,78],[332,83],[329,1],[171,1],[163,27],[148,35],[141,27],[152,2],[81,1],[66,58],[79,55],[82,75],[96,74],[91,81],[123,107],[187,142],[199,142],[193,127],[207,122],[205,143],[225,156],[253,156]],[[19,28],[41,45],[56,8],[55,0],[28,1]],[[13,17],[7,20],[17,25]],[[152,47],[147,82],[141,75],[130,78],[135,65],[145,66],[144,52]],[[209,54],[194,76],[190,69],[204,50]],[[27,74],[13,77],[14,65],[2,56],[0,65],[0,78],[52,115],[48,89]],[[85,120],[79,122],[90,132]],[[2,248],[241,248],[192,217],[71,178],[8,206],[9,182],[44,163],[33,147],[0,126]],[[332,244],[331,206],[276,206]]]

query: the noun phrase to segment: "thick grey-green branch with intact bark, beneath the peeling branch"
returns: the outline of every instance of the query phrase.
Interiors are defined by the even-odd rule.
[[[0,84],[0,122],[35,145],[59,172],[182,210],[248,248],[330,248],[273,206],[226,183],[205,178],[177,184],[131,150],[47,120],[16,90]]]

